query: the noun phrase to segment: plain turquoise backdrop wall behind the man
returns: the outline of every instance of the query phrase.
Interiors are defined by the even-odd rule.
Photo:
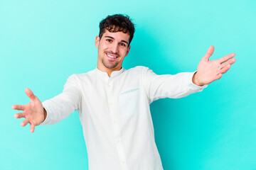
[[[71,74],[95,69],[98,24],[114,13],[136,24],[126,69],[193,72],[210,45],[210,60],[236,54],[202,92],[151,104],[164,169],[256,169],[255,8],[254,0],[0,0],[0,169],[87,169],[77,112],[31,133],[11,106],[29,102],[27,87],[44,101]]]

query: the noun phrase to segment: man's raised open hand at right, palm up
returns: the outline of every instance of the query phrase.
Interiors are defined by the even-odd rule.
[[[211,45],[206,52],[206,55],[198,64],[197,72],[193,75],[193,83],[198,86],[210,84],[211,82],[220,79],[222,75],[230,69],[231,64],[235,62],[235,53],[225,55],[218,60],[210,61],[209,58],[213,55],[214,47]]]

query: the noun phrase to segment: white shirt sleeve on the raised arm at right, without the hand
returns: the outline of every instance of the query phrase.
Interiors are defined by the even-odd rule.
[[[203,91],[207,85],[197,86],[193,84],[193,74],[195,72],[157,75],[146,67],[144,69],[143,82],[149,103],[159,98],[182,98],[189,94]]]

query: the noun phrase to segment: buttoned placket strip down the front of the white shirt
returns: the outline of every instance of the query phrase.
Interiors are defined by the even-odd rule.
[[[113,84],[113,77],[110,77],[107,81],[107,99],[109,102],[109,108],[110,108],[110,116],[112,120],[112,127],[114,129],[114,142],[117,147],[117,153],[119,156],[119,162],[122,166],[122,169],[127,170],[127,165],[126,165],[126,159],[125,159],[125,154],[124,154],[124,147],[122,144],[122,139],[120,135],[120,128],[119,128],[119,121],[117,120],[117,109],[116,105],[117,103],[114,103],[114,84]]]

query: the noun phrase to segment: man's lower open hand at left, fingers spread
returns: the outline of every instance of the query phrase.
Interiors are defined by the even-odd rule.
[[[31,101],[26,105],[13,105],[11,108],[23,111],[23,113],[16,113],[15,118],[25,118],[21,126],[31,124],[31,132],[34,132],[35,127],[40,125],[46,119],[46,110],[43,108],[41,101],[33,94],[30,89],[25,89],[26,95],[31,98]]]

